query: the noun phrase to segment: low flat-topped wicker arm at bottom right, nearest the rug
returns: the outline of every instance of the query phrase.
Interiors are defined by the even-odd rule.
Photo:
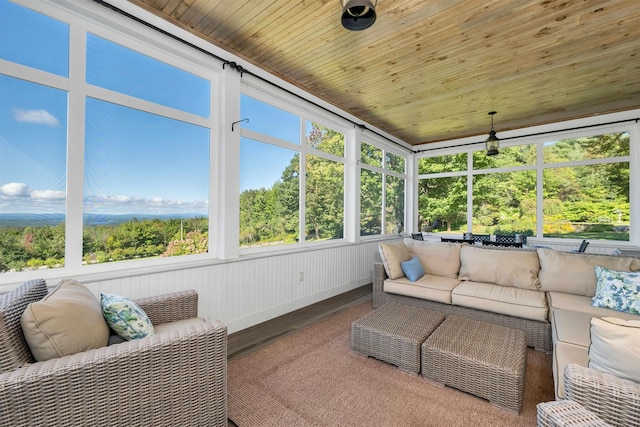
[[[595,414],[571,400],[538,404],[538,427],[607,427]]]

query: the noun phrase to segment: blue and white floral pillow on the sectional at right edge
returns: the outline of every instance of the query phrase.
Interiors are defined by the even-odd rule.
[[[614,271],[596,266],[594,307],[640,314],[640,271]]]

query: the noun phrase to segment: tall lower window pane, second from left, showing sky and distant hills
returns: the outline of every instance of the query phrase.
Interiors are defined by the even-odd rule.
[[[87,99],[86,263],[207,252],[208,129]]]

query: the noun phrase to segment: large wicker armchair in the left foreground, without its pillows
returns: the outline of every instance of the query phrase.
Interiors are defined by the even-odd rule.
[[[43,289],[35,280],[0,297],[0,425],[227,426],[224,324],[33,362],[20,317]],[[196,317],[197,300],[183,291],[137,302],[161,324]]]

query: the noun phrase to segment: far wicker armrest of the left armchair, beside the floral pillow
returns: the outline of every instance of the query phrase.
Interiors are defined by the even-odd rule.
[[[198,293],[172,292],[136,300],[154,325],[198,317]]]

